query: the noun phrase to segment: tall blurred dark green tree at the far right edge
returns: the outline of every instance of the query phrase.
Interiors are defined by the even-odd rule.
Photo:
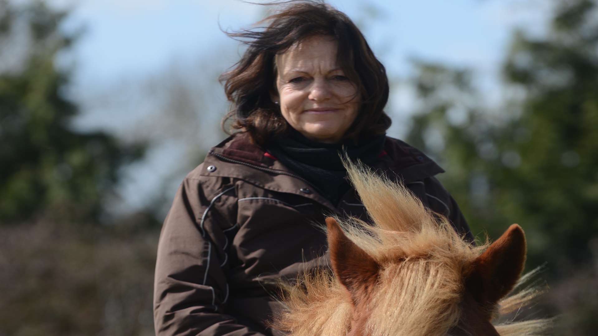
[[[547,233],[545,248],[575,262],[590,256],[588,242],[598,235],[597,5],[562,2],[551,35],[517,33],[505,65],[508,83],[525,93],[513,126],[527,136],[502,139],[523,162],[507,187],[524,193],[504,197]]]

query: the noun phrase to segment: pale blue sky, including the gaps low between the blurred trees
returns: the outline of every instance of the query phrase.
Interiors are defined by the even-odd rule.
[[[215,74],[233,65],[242,51],[219,26],[233,30],[249,28],[264,16],[261,6],[237,0],[48,1],[56,6],[74,5],[65,29],[86,27],[74,50],[65,56],[74,65],[72,93],[83,106],[77,126],[121,133],[148,118],[147,105],[154,98],[142,97],[144,103],[127,105],[133,95],[127,93],[130,87],[169,71],[173,65],[192,62],[202,66],[185,75],[196,78],[201,85],[219,85]],[[405,131],[401,129],[405,127],[402,121],[415,107],[413,93],[407,85],[400,84],[411,73],[411,57],[474,69],[483,96],[491,102],[498,101],[500,62],[512,29],[521,27],[541,34],[550,1],[329,0],[328,3],[358,23],[374,53],[388,69],[389,77],[396,80],[389,101],[392,109],[389,112],[395,119],[390,133],[400,136]],[[368,16],[372,11],[377,13],[376,19]],[[157,90],[160,91],[159,84]],[[219,95],[212,97],[216,101],[213,106],[222,106],[224,110],[222,90],[213,92],[210,94]],[[112,104],[94,108],[91,102],[102,95],[109,97]],[[217,120],[224,112],[209,111],[209,114]],[[121,190],[124,203],[141,206],[146,199],[139,195],[161,188],[160,181],[188,153],[188,149],[182,148],[193,147],[195,141],[203,143],[201,148],[218,142],[213,132],[197,133],[205,134],[204,138],[185,138],[184,144],[181,139],[164,140],[152,149],[144,163],[133,167],[134,173],[129,172]]]

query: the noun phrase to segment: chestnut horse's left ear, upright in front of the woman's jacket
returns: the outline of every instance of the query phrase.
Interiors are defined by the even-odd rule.
[[[379,264],[344,234],[337,221],[326,218],[328,249],[332,271],[340,283],[358,301],[362,291],[376,283]]]

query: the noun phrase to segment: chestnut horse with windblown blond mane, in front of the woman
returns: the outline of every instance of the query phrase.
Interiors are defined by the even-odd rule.
[[[490,244],[466,242],[403,185],[346,161],[372,223],[326,218],[330,270],[286,286],[272,323],[290,336],[543,335],[550,319],[493,325],[541,291],[522,280],[526,238],[511,225]]]

